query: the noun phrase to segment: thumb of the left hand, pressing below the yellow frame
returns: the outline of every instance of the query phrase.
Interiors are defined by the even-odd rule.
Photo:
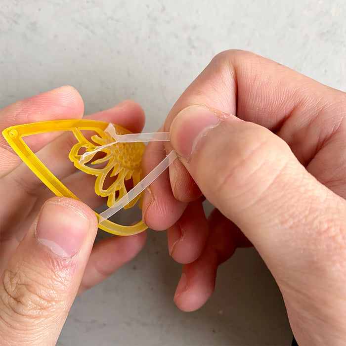
[[[43,205],[1,276],[1,345],[56,344],[96,231],[96,216],[80,201]]]

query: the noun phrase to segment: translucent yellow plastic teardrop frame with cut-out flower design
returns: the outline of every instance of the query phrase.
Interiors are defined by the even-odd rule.
[[[132,179],[133,186],[142,178],[141,159],[145,148],[144,143],[115,143],[114,138],[105,132],[109,124],[95,120],[56,120],[40,123],[17,125],[2,131],[2,135],[9,145],[18,154],[18,156],[28,165],[28,167],[43,181],[43,183],[57,196],[70,197],[79,200],[59,179],[54,176],[38,159],[33,151],[24,142],[23,136],[50,132],[50,131],[72,131],[78,140],[69,154],[70,160],[76,168],[85,173],[96,176],[95,193],[102,197],[108,197],[107,205],[112,206],[117,200],[124,196],[128,191],[126,189],[125,180]],[[127,134],[130,131],[114,125],[117,134]],[[89,141],[81,132],[82,130],[92,130],[97,134],[91,137]],[[100,159],[92,158],[83,159],[83,155],[79,151],[84,148],[86,152],[92,152],[94,155],[100,146],[110,144],[102,148],[100,151],[104,153],[104,157]],[[108,161],[108,162],[107,162]],[[107,164],[104,166],[104,164]],[[92,165],[103,164],[102,168],[94,168]],[[95,166],[96,167],[96,166]],[[104,189],[104,180],[106,176],[117,176],[108,188]],[[126,207],[131,208],[138,199],[141,202],[142,194],[132,200]],[[140,203],[141,204],[141,203]],[[97,218],[99,215],[95,212]],[[114,223],[108,219],[103,220],[99,227],[106,232],[117,235],[132,235],[144,231],[147,226],[140,221],[132,226],[124,226]]]

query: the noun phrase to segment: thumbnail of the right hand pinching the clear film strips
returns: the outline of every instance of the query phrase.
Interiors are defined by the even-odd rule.
[[[203,135],[214,128],[220,118],[208,108],[189,106],[178,113],[171,125],[171,143],[186,161]]]

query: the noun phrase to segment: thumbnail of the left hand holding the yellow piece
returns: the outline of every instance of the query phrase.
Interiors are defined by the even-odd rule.
[[[81,248],[89,227],[89,220],[79,210],[48,202],[39,214],[35,235],[56,255],[70,258]]]

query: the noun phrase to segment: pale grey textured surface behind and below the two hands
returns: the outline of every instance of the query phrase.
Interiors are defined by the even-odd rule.
[[[86,113],[132,98],[163,123],[219,51],[251,50],[346,90],[344,0],[0,1],[0,107],[72,85]],[[180,265],[165,232],[78,297],[58,345],[289,345],[280,292],[254,250],[237,251],[193,313],[173,303]],[[99,237],[104,237],[101,232]]]

